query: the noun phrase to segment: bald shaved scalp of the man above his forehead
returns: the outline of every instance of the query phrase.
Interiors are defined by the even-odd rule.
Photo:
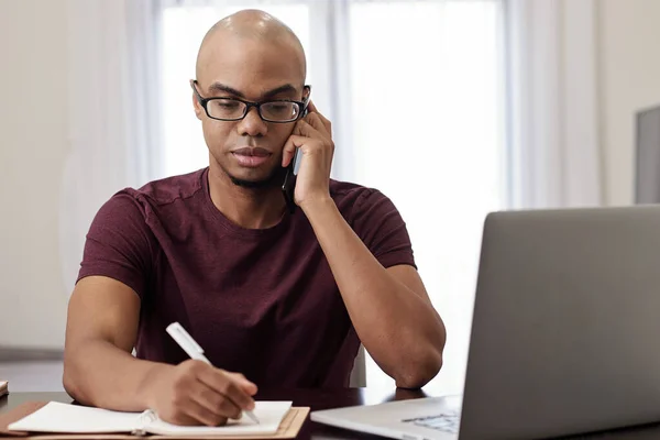
[[[305,80],[307,64],[302,44],[289,26],[273,15],[254,9],[239,11],[217,22],[205,35],[197,54],[196,75],[199,80],[217,57],[220,47],[227,45],[261,45],[280,52],[299,65]]]

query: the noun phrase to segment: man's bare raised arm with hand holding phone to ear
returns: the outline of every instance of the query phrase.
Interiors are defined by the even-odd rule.
[[[420,387],[442,365],[446,329],[413,266],[385,268],[330,197],[334,144],[330,121],[314,103],[284,146],[283,166],[302,151],[295,199],[309,219],[337,280],[355,331],[397,386]]]

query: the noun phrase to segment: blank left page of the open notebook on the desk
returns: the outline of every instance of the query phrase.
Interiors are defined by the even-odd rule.
[[[119,413],[51,402],[37,411],[9,425],[12,431],[33,432],[131,432],[140,413]]]

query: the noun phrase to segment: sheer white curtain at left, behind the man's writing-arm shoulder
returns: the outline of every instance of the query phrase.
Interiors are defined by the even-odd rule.
[[[73,288],[100,206],[160,174],[157,1],[67,0],[69,155],[61,182],[62,274]]]

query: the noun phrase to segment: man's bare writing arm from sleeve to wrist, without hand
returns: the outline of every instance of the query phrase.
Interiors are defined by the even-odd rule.
[[[76,400],[103,408],[141,411],[148,407],[150,378],[169,365],[131,355],[140,298],[105,276],[81,279],[68,307],[64,387]]]

